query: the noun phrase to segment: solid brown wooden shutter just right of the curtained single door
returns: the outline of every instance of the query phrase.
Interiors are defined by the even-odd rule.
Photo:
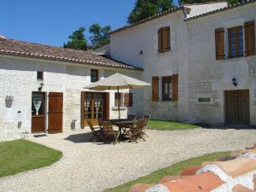
[[[63,93],[49,93],[48,132],[62,132]]]

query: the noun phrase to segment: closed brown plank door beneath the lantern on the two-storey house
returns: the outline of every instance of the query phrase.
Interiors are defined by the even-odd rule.
[[[230,125],[250,125],[249,90],[225,91],[225,121]]]

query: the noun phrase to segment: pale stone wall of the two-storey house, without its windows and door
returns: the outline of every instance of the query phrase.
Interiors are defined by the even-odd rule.
[[[218,6],[224,7],[225,3]],[[153,119],[222,124],[224,90],[248,89],[251,124],[256,125],[256,56],[215,59],[214,30],[225,28],[228,55],[227,28],[250,20],[256,21],[255,3],[190,21],[184,21],[183,11],[178,11],[113,33],[110,52],[119,61],[143,67],[143,80],[147,82],[153,76],[178,74],[178,102],[152,102],[151,89],[144,90],[143,113],[151,114]],[[157,31],[162,26],[171,27],[171,51],[159,54]],[[237,87],[231,82],[233,77],[238,79]],[[200,103],[199,97],[209,97],[211,102]]]

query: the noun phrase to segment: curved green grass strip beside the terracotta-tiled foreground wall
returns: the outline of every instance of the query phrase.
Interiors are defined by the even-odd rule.
[[[147,176],[139,177],[136,180],[121,184],[113,189],[104,190],[104,192],[128,192],[131,189],[131,186],[134,185],[135,183],[158,183],[160,178],[166,175],[178,175],[186,166],[200,166],[204,162],[217,160],[219,156],[229,154],[230,152],[221,152],[214,154],[206,154],[201,157],[196,157],[190,160],[183,160],[179,163],[173,164],[172,166],[167,166],[164,169],[152,172]]]

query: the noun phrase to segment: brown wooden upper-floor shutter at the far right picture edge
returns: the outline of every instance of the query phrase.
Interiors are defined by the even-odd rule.
[[[255,55],[255,28],[254,20],[244,24],[245,55]]]

